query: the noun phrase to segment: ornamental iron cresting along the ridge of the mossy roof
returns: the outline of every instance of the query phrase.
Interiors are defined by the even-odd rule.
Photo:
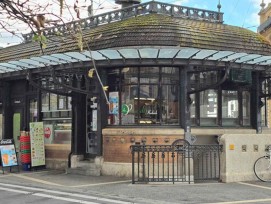
[[[221,12],[151,1],[92,16],[82,20],[72,21],[56,27],[46,28],[43,30],[43,33],[45,36],[55,36],[59,32],[62,34],[68,34],[75,30],[78,26],[84,30],[149,13],[159,13],[179,18],[223,23],[223,13]],[[33,36],[34,33],[23,35],[26,42],[32,41]]]

